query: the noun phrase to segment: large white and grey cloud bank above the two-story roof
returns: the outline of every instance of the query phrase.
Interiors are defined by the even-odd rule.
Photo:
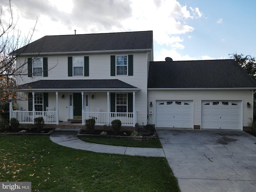
[[[187,8],[177,0],[12,0],[12,7],[20,15],[23,34],[38,18],[33,40],[74,34],[74,29],[77,34],[153,30],[156,44],[170,49],[162,49],[156,58],[174,55],[175,60],[193,59],[176,50],[185,48],[180,35],[194,31],[189,22],[203,16],[199,8]]]

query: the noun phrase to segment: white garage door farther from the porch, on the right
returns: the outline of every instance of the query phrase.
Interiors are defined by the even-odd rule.
[[[202,101],[202,128],[241,129],[241,102]]]

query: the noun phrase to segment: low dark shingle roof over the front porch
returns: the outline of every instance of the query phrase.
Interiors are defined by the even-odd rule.
[[[22,91],[139,91],[140,89],[118,79],[101,80],[39,80],[22,84]]]

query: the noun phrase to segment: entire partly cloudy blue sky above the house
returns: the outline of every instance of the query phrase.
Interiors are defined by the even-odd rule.
[[[8,24],[8,0],[2,18]],[[253,0],[12,0],[22,35],[153,30],[154,60],[256,57]]]

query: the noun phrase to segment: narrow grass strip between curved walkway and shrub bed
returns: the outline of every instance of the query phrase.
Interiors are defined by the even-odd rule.
[[[162,148],[162,144],[159,138],[148,140],[148,141],[118,139],[118,138],[110,138],[110,137],[104,138],[104,137],[79,136],[78,138],[86,142],[104,144],[104,145],[114,145],[114,146],[124,146],[124,147],[143,147],[143,148]]]

